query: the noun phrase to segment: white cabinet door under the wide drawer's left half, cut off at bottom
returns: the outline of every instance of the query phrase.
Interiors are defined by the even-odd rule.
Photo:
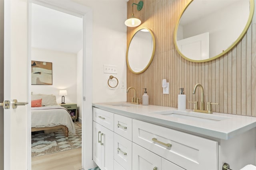
[[[161,170],[161,157],[132,143],[132,170]]]

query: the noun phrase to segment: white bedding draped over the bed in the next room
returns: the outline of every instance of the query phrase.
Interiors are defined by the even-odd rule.
[[[31,127],[54,127],[57,125],[65,125],[70,133],[76,133],[74,123],[66,108],[59,105],[31,107]]]

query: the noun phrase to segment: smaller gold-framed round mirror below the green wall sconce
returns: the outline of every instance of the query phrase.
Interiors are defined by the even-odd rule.
[[[155,37],[150,29],[140,29],[132,36],[126,51],[126,62],[133,73],[142,73],[149,67],[154,57],[155,45]]]

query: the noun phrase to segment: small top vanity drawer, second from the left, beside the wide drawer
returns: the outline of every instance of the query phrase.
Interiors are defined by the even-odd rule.
[[[114,114],[114,132],[132,141],[132,119]]]

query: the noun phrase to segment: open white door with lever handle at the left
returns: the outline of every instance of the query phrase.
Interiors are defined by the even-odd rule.
[[[29,102],[30,98],[27,25],[28,1],[4,0],[4,107],[9,105],[4,108],[4,170],[27,170],[30,162],[30,104],[12,107],[15,99]]]

